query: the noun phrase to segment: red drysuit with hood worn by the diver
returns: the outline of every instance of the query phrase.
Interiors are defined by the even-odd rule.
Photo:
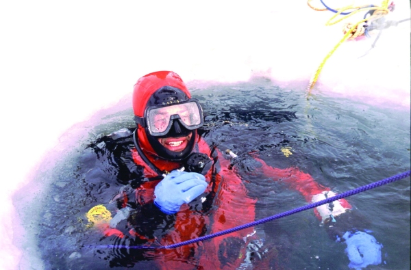
[[[147,100],[164,85],[177,87],[190,97],[190,93],[178,75],[173,72],[154,72],[142,77],[135,85],[133,96],[135,116],[144,115]],[[130,198],[133,195],[124,195],[119,207],[127,207],[130,200],[135,201],[138,207],[150,206],[154,209],[154,189],[155,185],[162,180],[162,173],[180,169],[183,162],[160,157],[147,139],[147,129],[144,127],[138,126],[135,133],[135,145],[129,151],[132,153],[132,160],[139,168],[139,177],[142,180],[134,188],[134,198]],[[190,152],[201,152],[212,160],[212,167],[204,173],[208,187],[203,195],[200,195],[197,202],[193,204],[183,204],[175,214],[172,228],[166,231],[163,229],[162,233],[157,232],[153,234],[154,236],[147,236],[129,224],[125,227],[129,228],[128,231],[108,228],[105,230],[106,236],[132,237],[144,239],[148,244],[171,245],[255,220],[254,205],[257,198],[247,195],[241,177],[230,166],[230,159],[216,148],[210,148],[206,141],[199,137],[197,131],[192,131],[192,135],[195,142]],[[262,170],[267,177],[273,180],[281,179],[288,183],[290,187],[299,191],[307,202],[323,200],[329,191],[297,168],[275,169],[257,157],[255,159],[262,163],[259,170]],[[334,209],[331,210],[326,206],[322,210],[317,209],[316,215],[324,220],[330,215],[339,215],[346,208],[350,208],[345,200],[334,202],[333,206]],[[138,223],[138,219],[133,220],[134,223]],[[159,224],[158,228],[161,230],[162,224]],[[175,249],[146,251],[145,256],[155,258],[162,269],[237,269],[245,258],[249,236],[252,234],[253,228],[248,228]]]

